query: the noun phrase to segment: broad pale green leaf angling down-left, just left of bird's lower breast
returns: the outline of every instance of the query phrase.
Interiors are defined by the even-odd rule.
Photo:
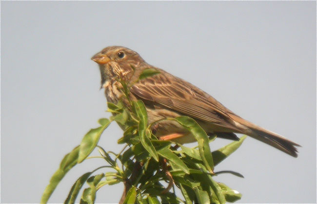
[[[78,163],[81,163],[88,157],[88,155],[95,149],[99,138],[101,136],[101,133],[104,129],[108,127],[110,124],[110,121],[108,119],[102,120],[102,126],[91,129],[82,139],[80,145],[79,145],[79,158]]]

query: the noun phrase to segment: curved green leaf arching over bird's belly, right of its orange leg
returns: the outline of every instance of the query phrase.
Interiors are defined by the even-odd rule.
[[[209,138],[206,132],[194,119],[187,116],[177,117],[175,120],[195,136],[198,142],[198,149],[202,162],[205,164],[209,172],[214,173],[213,156],[210,151]]]

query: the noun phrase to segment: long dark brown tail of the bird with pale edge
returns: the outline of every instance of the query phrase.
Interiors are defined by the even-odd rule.
[[[295,146],[300,146],[299,144],[294,143],[283,136],[278,135],[277,133],[271,132],[251,122],[245,121],[240,117],[237,122],[248,127],[248,131],[246,131],[245,134],[249,135],[250,137],[263,143],[267,143],[293,157],[297,157],[297,148]]]

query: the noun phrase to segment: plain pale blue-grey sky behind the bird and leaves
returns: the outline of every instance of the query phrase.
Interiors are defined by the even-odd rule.
[[[39,203],[63,156],[110,116],[90,60],[110,45],[302,145],[295,159],[247,138],[216,168],[244,175],[215,177],[238,203],[316,203],[316,1],[1,1],[1,203]],[[99,144],[119,152],[121,135],[113,123]],[[103,164],[75,166],[49,202]],[[104,186],[96,202],[122,190]]]

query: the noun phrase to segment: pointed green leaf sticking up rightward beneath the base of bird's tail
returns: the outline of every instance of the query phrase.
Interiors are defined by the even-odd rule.
[[[213,158],[214,158],[214,164],[217,165],[218,163],[222,162],[224,159],[226,159],[230,154],[232,154],[234,151],[236,151],[239,146],[242,144],[242,142],[245,140],[247,136],[244,135],[240,138],[239,141],[235,141],[233,143],[230,143],[224,147],[221,147],[217,151],[213,151]]]

